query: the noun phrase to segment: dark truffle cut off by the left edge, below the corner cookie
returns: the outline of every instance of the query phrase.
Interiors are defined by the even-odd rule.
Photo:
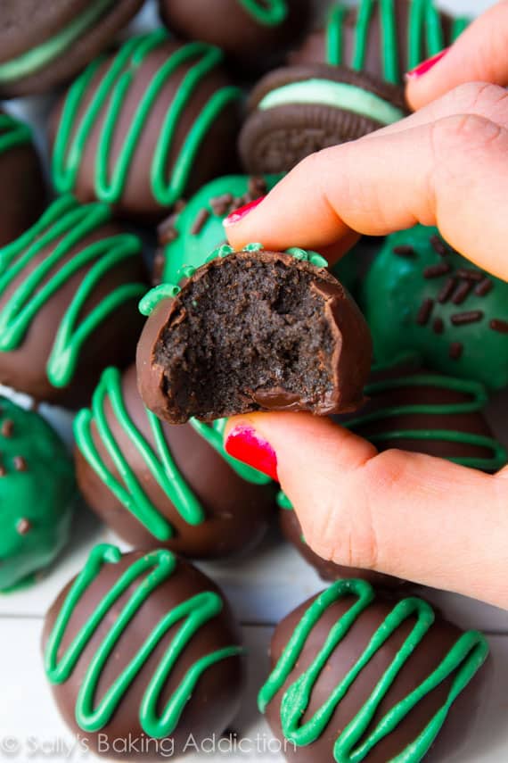
[[[45,207],[41,162],[28,125],[0,112],[0,246],[24,233]]]

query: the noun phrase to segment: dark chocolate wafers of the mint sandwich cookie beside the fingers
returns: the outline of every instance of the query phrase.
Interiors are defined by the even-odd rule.
[[[249,116],[239,138],[243,168],[250,173],[288,172],[310,153],[347,143],[383,127],[363,114],[324,104],[285,104],[258,109],[273,90],[307,79],[362,87],[406,112],[400,87],[374,79],[369,74],[326,64],[305,64],[271,71],[250,95]]]

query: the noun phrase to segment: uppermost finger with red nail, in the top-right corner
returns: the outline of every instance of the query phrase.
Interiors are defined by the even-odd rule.
[[[458,37],[447,54],[438,54],[406,75],[406,97],[421,109],[465,82],[508,85],[508,0],[483,13]]]

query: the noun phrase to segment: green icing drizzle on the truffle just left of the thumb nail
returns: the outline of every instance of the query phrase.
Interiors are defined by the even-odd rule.
[[[127,435],[129,443],[135,446],[153,479],[175,506],[179,515],[188,525],[194,527],[201,525],[206,520],[205,510],[176,465],[164,435],[162,423],[151,411],[144,409],[155,441],[155,447],[153,447],[136,427],[127,411],[122,394],[120,372],[114,368],[103,372],[101,381],[94,392],[92,410],[79,411],[74,421],[78,448],[104,485],[107,485],[118,501],[157,540],[168,541],[173,537],[173,527],[152,502],[145,485],[136,477],[127,457],[117,443],[106,414],[106,402],[109,402],[115,420]],[[94,443],[93,424],[120,478],[111,472],[98,452]],[[191,424],[194,430],[223,456],[240,477],[257,485],[266,485],[270,482],[269,477],[244,466],[241,461],[225,453],[222,445],[225,420],[216,421],[211,427],[195,420],[192,420]]]

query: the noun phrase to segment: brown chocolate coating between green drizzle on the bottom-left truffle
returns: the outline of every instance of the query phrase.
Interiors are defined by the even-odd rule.
[[[78,601],[78,605],[70,618],[69,626],[63,637],[61,644],[62,653],[67,649],[76,634],[78,634],[79,629],[86,624],[86,621],[90,618],[102,597],[109,593],[111,587],[119,580],[119,576],[126,571],[134,560],[142,556],[143,552],[132,552],[124,555],[117,564],[108,564],[102,568],[99,576],[96,577],[86,593]],[[46,615],[43,649],[45,649],[49,634],[53,629],[55,620],[58,617],[72,582],[63,589]],[[127,594],[124,593],[119,598],[118,602],[114,605],[115,612],[123,609],[129,596],[134,593],[135,587],[139,587],[139,582],[132,585],[127,590]],[[114,659],[108,659],[102,668],[97,696],[95,697],[95,706],[101,700],[103,693],[111,687],[111,684],[124,671],[130,660],[135,657],[137,651],[139,651],[148,635],[152,632],[152,629],[160,620],[179,603],[187,601],[204,591],[215,592],[222,596],[217,586],[208,577],[204,576],[196,568],[193,568],[192,565],[183,560],[178,560],[175,573],[152,591],[151,595],[143,603],[142,608],[120,636],[119,643],[114,651]],[[224,597],[222,598],[224,600]],[[61,716],[74,733],[79,734],[81,737],[85,736],[88,739],[92,750],[97,751],[100,734],[105,734],[111,744],[115,739],[120,741],[119,744],[122,740],[128,740],[129,734],[133,739],[139,739],[144,736],[146,741],[146,739],[150,738],[143,733],[140,725],[140,703],[155,670],[160,664],[160,659],[168,649],[169,643],[171,643],[172,636],[181,626],[182,622],[179,622],[161,639],[160,643],[144,663],[141,672],[128,687],[127,693],[120,701],[118,709],[111,717],[111,721],[102,727],[99,732],[84,733],[79,728],[75,718],[75,706],[86,669],[94,658],[94,654],[101,645],[105,635],[111,630],[111,618],[106,617],[102,620],[101,625],[94,632],[89,643],[86,644],[86,648],[81,653],[69,679],[63,684],[52,685],[53,696]],[[213,651],[232,645],[240,645],[241,643],[242,639],[239,629],[234,623],[234,618],[227,602],[224,600],[222,612],[202,626],[184,648],[184,652],[164,684],[160,694],[160,707],[166,706],[176,686],[182,681],[184,674],[193,666],[197,659],[201,659],[201,657]],[[220,735],[224,732],[238,710],[242,685],[243,666],[242,658],[239,656],[224,659],[207,668],[184,709],[176,731],[170,737],[175,744],[175,754],[182,750],[184,744],[188,742],[190,734],[193,734],[196,742],[200,744],[204,738],[211,734]],[[150,749],[153,751],[153,748]],[[161,749],[163,750],[163,748]],[[167,746],[166,750],[168,749]],[[156,755],[138,755],[135,751],[131,752],[129,756],[126,756],[124,753],[117,753],[115,756],[112,750],[106,757],[136,760],[157,759]],[[162,758],[163,755],[159,759]]]

